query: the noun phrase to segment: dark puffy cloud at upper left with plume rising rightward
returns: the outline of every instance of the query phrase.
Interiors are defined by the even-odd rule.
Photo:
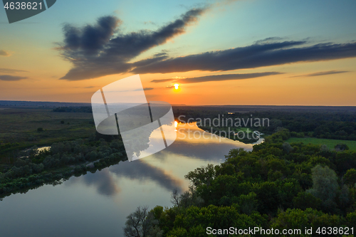
[[[167,58],[165,54],[128,63],[141,53],[167,43],[185,33],[187,26],[197,22],[206,8],[191,9],[179,19],[167,23],[157,31],[121,33],[122,23],[115,16],[105,16],[97,23],[78,28],[70,24],[63,27],[64,41],[59,44],[61,55],[73,63],[62,80],[84,80],[103,75],[125,73],[132,67],[142,67]]]

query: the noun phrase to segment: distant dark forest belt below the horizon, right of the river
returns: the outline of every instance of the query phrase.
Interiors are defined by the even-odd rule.
[[[265,134],[272,134],[278,127],[285,127],[292,132],[293,137],[309,136],[326,139],[356,140],[355,112],[251,111],[229,114],[226,110],[188,110],[176,108],[174,110],[174,117],[176,120],[178,120],[180,115],[184,115],[184,117],[181,118],[185,121],[189,120],[189,118],[194,120],[197,120],[198,118],[202,120],[210,118],[213,120],[219,115],[221,117],[224,115],[224,120],[228,118],[232,118],[233,120],[240,118],[241,120],[244,119],[247,121],[251,118],[268,118],[268,126],[265,123],[264,127],[252,127],[253,130],[258,130]],[[251,123],[246,123],[246,127],[251,127]],[[220,126],[217,128],[220,128]]]

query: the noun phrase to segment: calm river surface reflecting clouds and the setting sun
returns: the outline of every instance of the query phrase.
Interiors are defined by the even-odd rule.
[[[251,144],[207,134],[209,139],[199,139],[198,133],[194,138],[193,132],[202,130],[195,125],[184,127],[185,138],[179,133],[174,144],[150,157],[4,198],[0,236],[123,236],[125,218],[137,206],[172,206],[172,190],[188,189],[184,175],[189,171],[224,162],[230,149],[252,149]]]

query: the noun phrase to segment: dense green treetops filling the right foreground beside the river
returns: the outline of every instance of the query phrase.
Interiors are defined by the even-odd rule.
[[[252,152],[232,149],[224,163],[189,172],[190,190],[181,195],[174,192],[171,208],[138,208],[127,217],[125,236],[132,236],[137,228],[137,236],[199,237],[206,236],[207,227],[231,226],[281,231],[313,227],[312,235],[288,236],[320,236],[318,229],[337,227],[337,233],[324,236],[352,236],[351,228],[356,231],[356,152],[288,144],[284,142],[288,137],[289,130],[279,129]]]

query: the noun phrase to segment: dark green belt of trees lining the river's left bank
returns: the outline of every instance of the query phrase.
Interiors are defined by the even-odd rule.
[[[95,172],[127,159],[121,139],[106,136],[108,139],[105,140],[103,137],[97,135],[87,140],[58,142],[52,144],[51,149],[41,152],[37,147],[19,152],[14,164],[1,168],[0,194],[4,196],[14,191],[56,183],[75,174]]]

